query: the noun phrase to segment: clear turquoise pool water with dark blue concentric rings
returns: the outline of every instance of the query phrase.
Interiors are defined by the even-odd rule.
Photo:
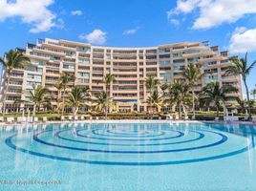
[[[255,191],[256,127],[69,123],[0,128],[0,190]]]

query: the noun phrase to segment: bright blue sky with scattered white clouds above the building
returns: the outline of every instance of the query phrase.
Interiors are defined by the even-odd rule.
[[[0,0],[0,55],[45,37],[117,47],[209,40],[252,61],[256,0]]]

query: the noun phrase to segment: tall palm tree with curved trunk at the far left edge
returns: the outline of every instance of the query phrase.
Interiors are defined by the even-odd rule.
[[[2,112],[5,115],[6,110],[6,95],[9,89],[10,77],[14,69],[20,68],[24,69],[26,66],[31,64],[30,58],[25,56],[23,53],[17,51],[9,51],[5,53],[5,57],[0,57],[0,63],[3,64],[4,70],[6,71],[5,74],[5,89],[3,92],[3,99],[2,99]]]

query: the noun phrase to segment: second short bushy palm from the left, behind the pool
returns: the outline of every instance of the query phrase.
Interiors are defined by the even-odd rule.
[[[90,100],[89,87],[75,86],[68,96],[67,103],[72,107],[73,115],[75,117],[79,108],[86,106],[86,102]]]

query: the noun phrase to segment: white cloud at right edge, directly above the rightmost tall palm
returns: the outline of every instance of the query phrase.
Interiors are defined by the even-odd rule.
[[[229,51],[230,53],[256,52],[256,28],[237,28],[231,36]]]

